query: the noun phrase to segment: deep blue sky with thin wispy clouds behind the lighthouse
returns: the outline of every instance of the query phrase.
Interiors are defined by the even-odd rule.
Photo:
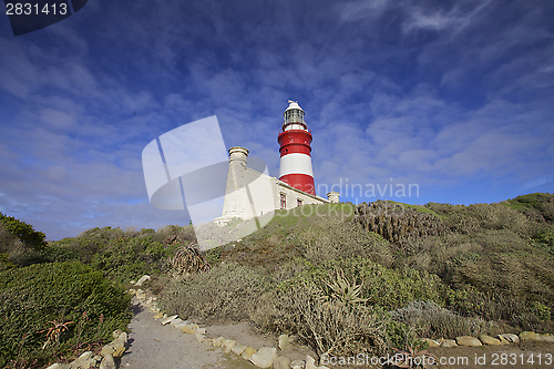
[[[288,99],[321,189],[552,193],[554,2],[89,0],[18,38],[0,17],[0,212],[49,239],[188,224],[150,205],[142,150],[215,114],[227,147],[278,175]]]

